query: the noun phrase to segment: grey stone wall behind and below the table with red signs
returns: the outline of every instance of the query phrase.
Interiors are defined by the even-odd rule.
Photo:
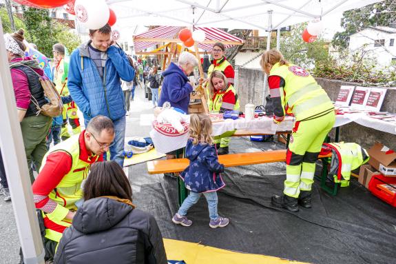
[[[316,81],[326,90],[333,101],[337,99],[341,85],[359,85],[358,83],[323,78],[316,78]],[[240,98],[241,110],[244,111],[244,105],[247,103],[262,105],[263,94],[265,97],[268,92],[264,91],[264,74],[262,74],[262,71],[240,68],[238,71],[238,96]],[[396,112],[396,88],[388,88],[381,111]],[[330,135],[334,138],[334,134],[333,129]],[[340,128],[340,141],[356,142],[364,148],[370,148],[371,145],[378,141],[396,150],[396,136],[394,134],[366,128],[353,122],[343,125]]]

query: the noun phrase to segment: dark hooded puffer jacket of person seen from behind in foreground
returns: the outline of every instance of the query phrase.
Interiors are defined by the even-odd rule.
[[[166,264],[163,237],[154,216],[114,199],[83,203],[63,232],[54,263]]]

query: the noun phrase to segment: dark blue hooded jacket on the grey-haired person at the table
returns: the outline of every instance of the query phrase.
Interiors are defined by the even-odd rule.
[[[174,108],[180,108],[188,112],[190,92],[193,88],[187,81],[186,74],[175,63],[171,63],[167,70],[163,72],[163,88],[161,90],[158,106],[163,106],[165,102],[171,103]]]

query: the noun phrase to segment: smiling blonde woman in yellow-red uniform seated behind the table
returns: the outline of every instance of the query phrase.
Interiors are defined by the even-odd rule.
[[[209,112],[225,112],[227,110],[239,110],[239,99],[236,90],[227,77],[220,70],[215,70],[209,76]],[[215,139],[219,155],[228,154],[230,137]]]

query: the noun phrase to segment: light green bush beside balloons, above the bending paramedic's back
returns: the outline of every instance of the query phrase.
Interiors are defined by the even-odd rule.
[[[295,26],[281,36],[280,51],[284,58],[303,68],[313,69],[317,63],[329,61],[329,43],[324,39],[317,39],[313,43],[302,40],[302,31],[306,23]]]

